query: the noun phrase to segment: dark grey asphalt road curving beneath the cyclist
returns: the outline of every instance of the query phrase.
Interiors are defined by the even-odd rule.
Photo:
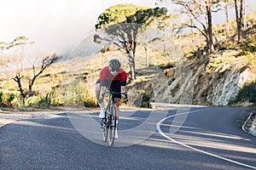
[[[256,169],[256,138],[241,130],[240,112],[122,111],[113,147],[96,112],[37,116],[0,128],[0,169]]]

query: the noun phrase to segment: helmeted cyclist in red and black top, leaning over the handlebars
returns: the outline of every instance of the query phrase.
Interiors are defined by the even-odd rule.
[[[124,69],[121,68],[121,63],[119,59],[110,59],[108,61],[108,66],[102,68],[100,72],[100,78],[96,81],[96,99],[98,101],[98,105],[101,107],[101,111],[99,114],[100,118],[105,117],[105,107],[104,107],[104,94],[106,89],[108,88],[110,91],[117,93],[125,93],[126,89],[126,80],[127,74]],[[119,121],[119,105],[121,94],[113,94],[114,104],[116,107],[116,120],[117,124]],[[126,96],[123,96],[126,99]],[[117,129],[115,131],[115,138],[118,138]]]

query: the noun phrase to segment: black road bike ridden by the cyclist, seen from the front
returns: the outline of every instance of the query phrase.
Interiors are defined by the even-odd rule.
[[[127,99],[127,93],[117,93],[106,91],[108,93],[108,105],[105,110],[105,117],[102,119],[102,128],[103,128],[103,141],[107,142],[109,146],[113,146],[113,141],[115,139],[115,131],[117,130],[116,123],[116,108],[114,105],[113,94],[125,94],[125,99]],[[125,100],[125,102],[127,102]]]

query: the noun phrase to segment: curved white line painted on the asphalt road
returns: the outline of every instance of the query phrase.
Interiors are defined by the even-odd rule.
[[[202,111],[202,110],[197,110],[197,111]],[[197,111],[190,111],[189,113],[197,112]],[[192,146],[189,146],[189,145],[187,145],[187,144],[183,144],[183,143],[181,143],[181,142],[178,142],[177,140],[170,138],[169,136],[167,136],[165,133],[162,132],[162,130],[160,129],[160,126],[161,126],[162,122],[166,121],[166,119],[168,119],[168,118],[170,118],[170,117],[179,116],[179,115],[183,115],[183,114],[188,114],[188,113],[185,112],[185,113],[180,113],[180,114],[177,114],[177,115],[167,116],[166,118],[160,120],[160,122],[158,122],[157,125],[156,125],[158,132],[159,132],[163,137],[165,137],[166,139],[169,139],[169,140],[171,140],[172,142],[174,142],[174,143],[176,143],[176,144],[183,145],[184,147],[189,148],[189,149],[191,149],[191,150],[199,151],[199,152],[201,152],[201,153],[203,153],[203,154],[206,154],[206,155],[208,155],[208,156],[217,157],[218,159],[222,159],[222,160],[224,160],[224,161],[230,161],[230,162],[232,162],[232,163],[236,163],[236,164],[241,165],[241,166],[243,166],[243,167],[250,167],[250,168],[256,169],[256,167],[247,165],[247,164],[245,164],[245,163],[241,163],[241,162],[239,162],[239,161],[234,161],[234,160],[225,158],[225,157],[223,157],[223,156],[217,156],[217,155],[215,155],[215,154],[209,153],[209,152],[204,151],[204,150],[198,150],[198,149],[196,149],[196,148],[194,148],[194,147],[192,147]]]

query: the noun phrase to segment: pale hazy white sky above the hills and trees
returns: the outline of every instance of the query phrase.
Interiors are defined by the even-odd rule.
[[[0,42],[25,36],[39,52],[66,53],[94,31],[99,14],[118,3],[155,7],[154,0],[0,0]]]

